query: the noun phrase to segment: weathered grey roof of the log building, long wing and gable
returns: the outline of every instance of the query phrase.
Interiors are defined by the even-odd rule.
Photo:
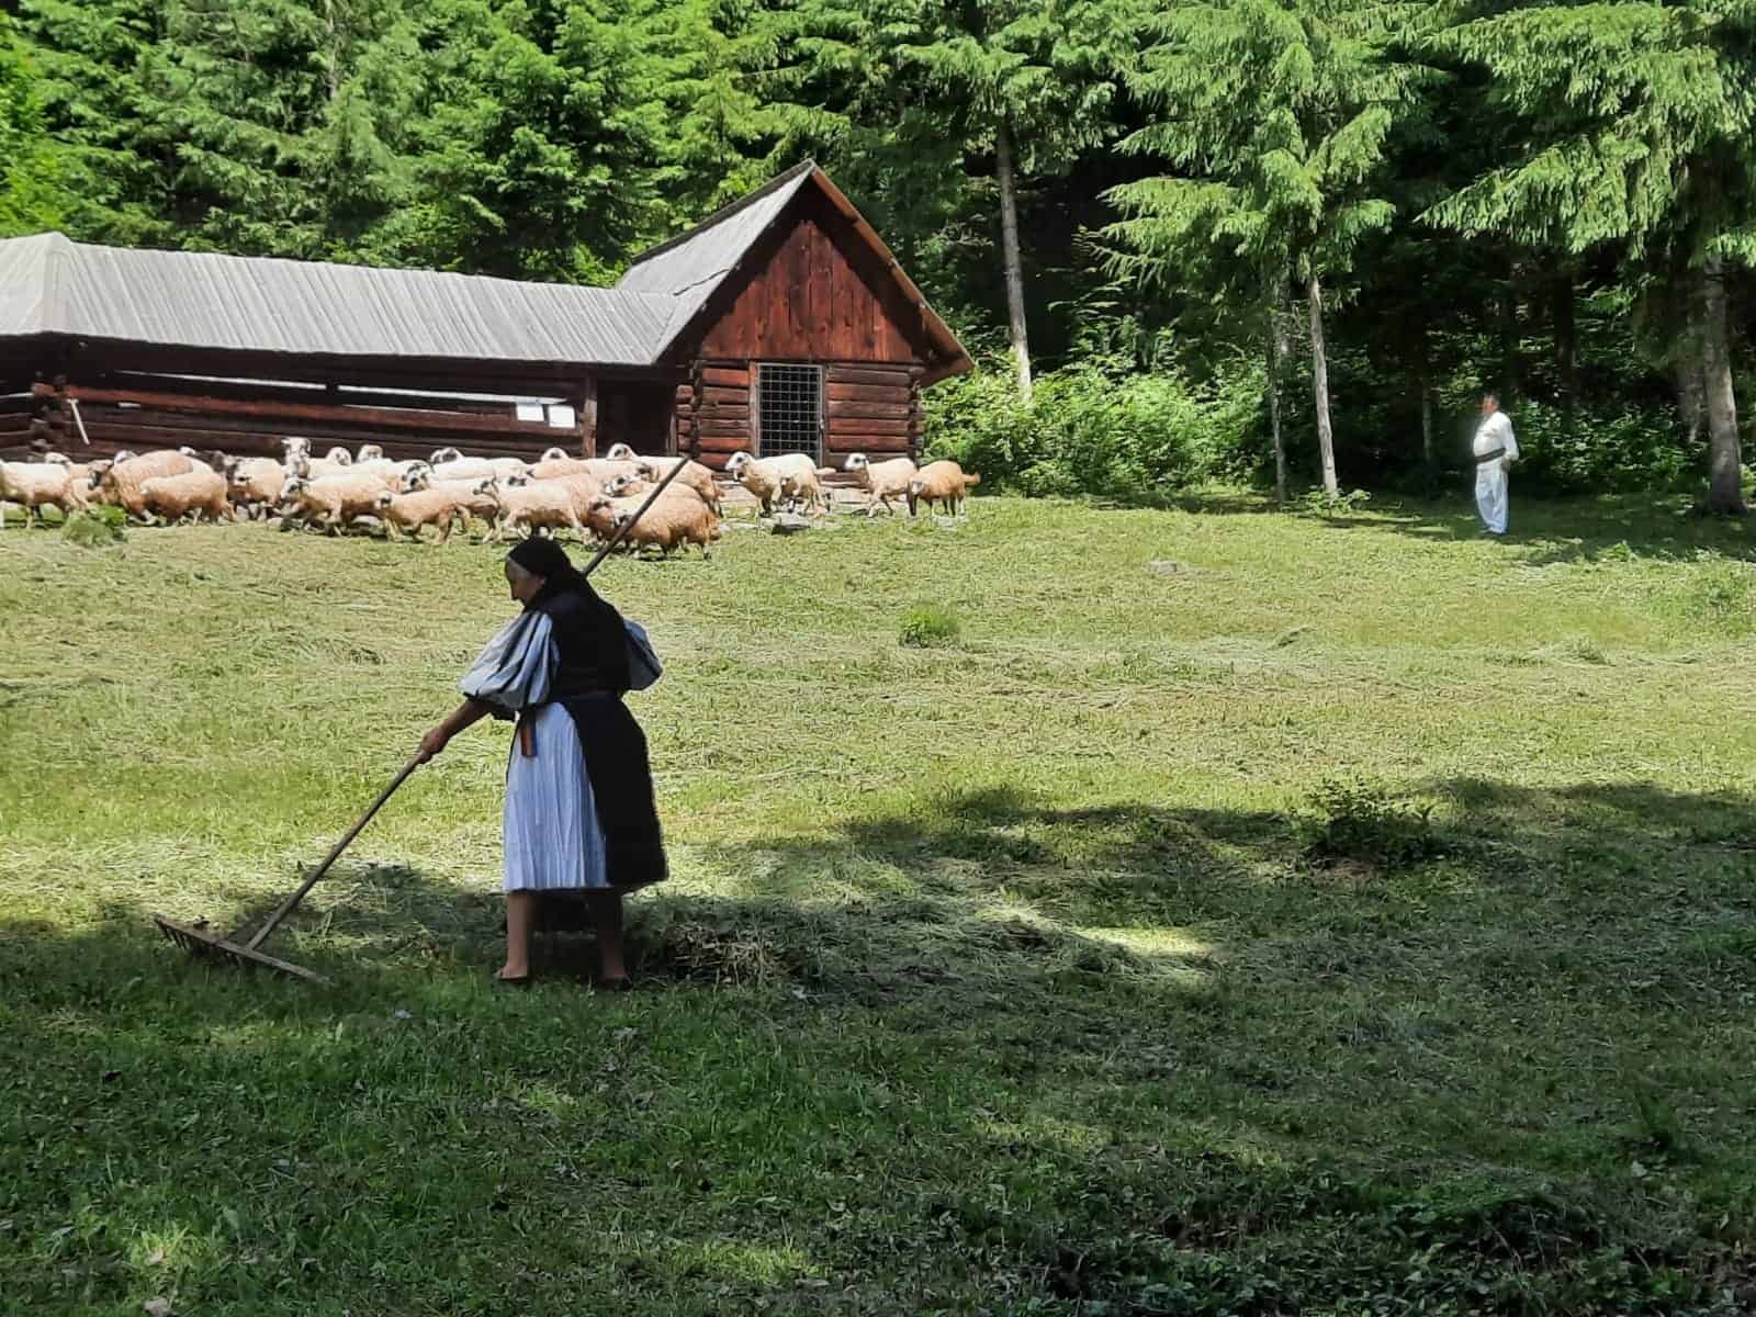
[[[615,288],[102,248],[61,234],[5,239],[0,341],[56,334],[288,356],[655,365],[813,183],[918,304],[943,355],[929,374],[966,369],[955,335],[811,160],[646,251]]]

